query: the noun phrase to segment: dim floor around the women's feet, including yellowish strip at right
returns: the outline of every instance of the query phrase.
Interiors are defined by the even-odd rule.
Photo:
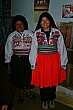
[[[1,66],[0,66],[1,67]],[[14,107],[13,110],[43,110],[41,108],[41,100],[40,100],[40,95],[39,91],[35,89],[32,91],[33,95],[36,96],[36,98],[31,98],[27,95],[27,92],[24,93],[24,102],[23,103],[18,103],[18,98],[19,98],[19,91],[17,90],[14,96]],[[54,110],[73,110],[73,106],[70,105],[70,103],[73,105],[73,99],[68,98],[65,95],[58,94],[57,93],[57,98],[55,100],[55,108]],[[52,110],[52,109],[48,109]]]

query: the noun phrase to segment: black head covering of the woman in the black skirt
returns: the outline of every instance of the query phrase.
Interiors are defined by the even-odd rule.
[[[28,23],[27,23],[26,18],[22,15],[16,15],[12,21],[12,31],[16,30],[15,23],[17,21],[21,21],[24,24],[25,30],[28,30]]]

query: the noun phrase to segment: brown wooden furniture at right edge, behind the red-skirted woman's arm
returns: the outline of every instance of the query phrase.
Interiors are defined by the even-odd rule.
[[[67,79],[62,85],[73,89],[73,22],[58,22],[57,26],[64,36],[68,52]]]

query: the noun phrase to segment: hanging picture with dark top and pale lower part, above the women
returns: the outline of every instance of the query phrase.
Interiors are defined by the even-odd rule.
[[[35,22],[38,21],[38,18],[42,12],[49,10],[50,0],[34,0],[34,11],[33,19]]]

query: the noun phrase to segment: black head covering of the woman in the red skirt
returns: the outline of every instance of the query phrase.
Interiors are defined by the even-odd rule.
[[[38,29],[41,28],[40,22],[41,22],[41,20],[42,20],[43,17],[46,17],[50,21],[50,27],[57,28],[57,26],[56,26],[56,24],[55,24],[54,19],[52,18],[52,16],[48,12],[43,12],[40,15],[40,17],[39,17],[39,20],[38,20],[38,23],[37,23],[37,26],[36,26],[35,30],[38,30]]]

